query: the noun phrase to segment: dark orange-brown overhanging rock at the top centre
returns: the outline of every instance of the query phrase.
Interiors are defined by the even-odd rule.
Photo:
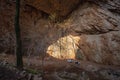
[[[26,0],[27,4],[34,6],[48,14],[66,16],[81,0]]]

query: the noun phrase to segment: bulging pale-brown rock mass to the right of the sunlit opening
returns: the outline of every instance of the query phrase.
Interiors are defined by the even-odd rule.
[[[86,3],[80,6],[70,18],[71,28],[80,35],[78,53],[84,55],[85,60],[119,65],[120,15],[110,12],[106,5]]]

